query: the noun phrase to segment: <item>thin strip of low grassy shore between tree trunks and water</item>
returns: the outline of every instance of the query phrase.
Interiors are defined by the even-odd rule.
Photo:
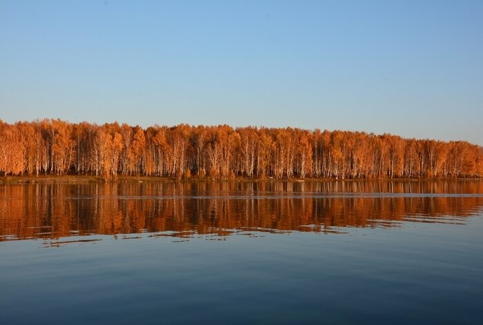
[[[165,176],[128,176],[117,175],[106,179],[102,176],[95,175],[17,175],[17,176],[2,176],[0,177],[0,184],[40,184],[40,183],[62,183],[62,184],[81,184],[81,183],[115,183],[115,182],[161,182],[161,183],[176,183],[176,182],[196,182],[196,181],[431,181],[431,180],[465,180],[465,179],[480,179],[475,177],[457,178],[457,177],[433,177],[433,178],[357,178],[357,179],[336,179],[336,178],[305,178],[299,179],[292,177],[290,179],[275,179],[275,178],[249,178],[249,177],[235,177],[233,179],[212,179],[210,177],[190,177],[189,179]]]

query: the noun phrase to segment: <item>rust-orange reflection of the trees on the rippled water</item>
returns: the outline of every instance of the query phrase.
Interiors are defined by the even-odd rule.
[[[376,194],[371,194],[376,193]],[[377,194],[388,193],[388,194]],[[482,181],[207,182],[30,184],[0,188],[0,240],[173,230],[322,231],[332,226],[391,225],[408,216],[467,217]],[[301,227],[310,225],[311,227]]]

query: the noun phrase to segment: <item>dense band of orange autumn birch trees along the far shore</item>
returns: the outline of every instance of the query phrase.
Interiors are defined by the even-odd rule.
[[[483,147],[340,130],[0,120],[0,175],[482,177]]]

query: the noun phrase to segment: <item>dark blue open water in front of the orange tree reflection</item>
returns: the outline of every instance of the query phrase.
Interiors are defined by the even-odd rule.
[[[0,323],[481,324],[482,215],[345,231],[3,242]]]

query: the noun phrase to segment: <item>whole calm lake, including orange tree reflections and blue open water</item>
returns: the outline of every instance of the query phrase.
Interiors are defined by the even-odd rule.
[[[483,181],[0,186],[0,324],[481,324]]]

